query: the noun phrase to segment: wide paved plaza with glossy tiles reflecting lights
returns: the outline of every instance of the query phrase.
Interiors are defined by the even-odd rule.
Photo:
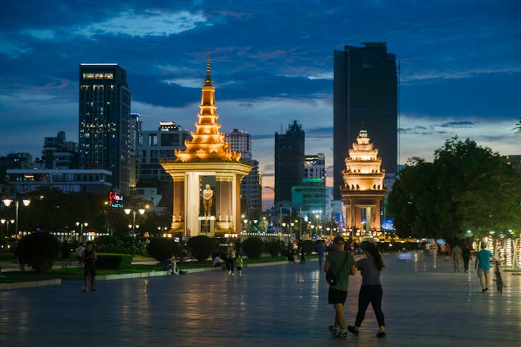
[[[385,255],[378,339],[372,308],[358,336],[333,339],[317,261],[0,291],[0,346],[520,346],[521,276],[504,272],[502,294],[481,294],[474,271],[422,253]],[[474,264],[471,263],[472,270]],[[521,271],[520,271],[521,273]],[[354,323],[361,276],[345,307]]]

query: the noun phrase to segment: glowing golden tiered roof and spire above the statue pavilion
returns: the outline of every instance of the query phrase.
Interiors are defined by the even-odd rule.
[[[201,105],[195,124],[195,133],[192,131],[192,141],[185,141],[184,151],[176,150],[174,155],[177,162],[224,161],[239,162],[241,153],[230,150],[230,144],[224,141],[224,134],[220,132],[221,124],[217,123],[219,115],[215,113],[215,87],[210,77],[210,55],[206,58],[206,79],[201,88]]]

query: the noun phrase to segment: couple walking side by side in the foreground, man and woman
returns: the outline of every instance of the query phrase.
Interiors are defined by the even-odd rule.
[[[386,324],[381,310],[383,291],[381,288],[380,274],[384,267],[381,254],[377,246],[372,243],[365,245],[365,258],[354,261],[351,253],[344,251],[344,239],[341,236],[333,240],[331,251],[324,266],[324,271],[331,271],[336,278],[335,283],[329,285],[328,303],[335,307],[335,323],[329,326],[329,331],[340,339],[347,339],[347,330],[358,335],[358,329],[365,318],[367,306],[371,303],[374,313],[377,315],[379,332],[377,337],[386,337]],[[347,298],[349,275],[354,275],[356,269],[361,271],[362,285],[358,294],[358,312],[354,325],[348,325],[347,330],[344,319],[344,303]]]

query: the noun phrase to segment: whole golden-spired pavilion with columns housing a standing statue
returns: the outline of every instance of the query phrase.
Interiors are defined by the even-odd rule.
[[[185,141],[184,151],[174,151],[176,158],[161,162],[174,180],[173,215],[181,216],[177,221],[172,219],[170,231],[186,234],[186,230],[191,230],[191,236],[240,230],[240,181],[252,169],[240,160],[240,153],[230,150],[230,144],[224,142],[224,134],[220,132],[209,53],[201,90],[199,121],[195,132],[191,132],[192,141]],[[226,219],[221,220],[220,216]]]

